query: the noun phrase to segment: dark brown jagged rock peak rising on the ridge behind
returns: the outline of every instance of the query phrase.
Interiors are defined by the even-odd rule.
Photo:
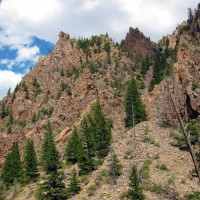
[[[144,55],[151,55],[156,48],[156,44],[144,36],[138,28],[129,28],[129,32],[126,35],[125,40],[121,42],[122,49],[129,53],[135,54],[137,57]]]

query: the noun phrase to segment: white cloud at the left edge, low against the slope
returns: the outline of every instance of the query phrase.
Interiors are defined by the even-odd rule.
[[[9,88],[11,88],[11,91],[14,90],[17,83],[21,81],[22,76],[22,74],[9,70],[0,70],[0,100],[6,96]]]

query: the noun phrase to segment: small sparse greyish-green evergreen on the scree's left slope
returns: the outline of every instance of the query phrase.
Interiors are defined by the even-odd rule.
[[[108,173],[109,173],[113,183],[116,184],[117,178],[122,174],[122,165],[120,164],[116,154],[111,155],[111,161],[109,164],[109,172]]]

